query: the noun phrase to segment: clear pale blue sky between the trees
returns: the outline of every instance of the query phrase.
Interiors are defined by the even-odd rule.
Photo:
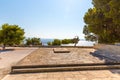
[[[25,37],[84,39],[83,17],[92,0],[0,0],[0,26],[17,24]]]

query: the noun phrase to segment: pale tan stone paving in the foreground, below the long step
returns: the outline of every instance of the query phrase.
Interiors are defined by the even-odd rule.
[[[9,74],[2,80],[120,80],[120,70]]]

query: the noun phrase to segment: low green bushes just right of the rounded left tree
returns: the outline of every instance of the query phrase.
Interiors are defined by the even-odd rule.
[[[26,45],[41,45],[40,38],[28,38],[26,39]]]

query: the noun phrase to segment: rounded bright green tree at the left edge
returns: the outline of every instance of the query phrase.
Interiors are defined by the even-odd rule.
[[[3,24],[0,29],[0,43],[3,49],[6,45],[19,45],[24,39],[24,29],[18,25]]]

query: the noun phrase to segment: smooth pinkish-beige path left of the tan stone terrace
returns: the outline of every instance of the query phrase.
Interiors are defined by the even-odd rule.
[[[14,48],[14,50],[0,51],[0,79],[6,75],[12,65],[35,51],[37,48]]]

